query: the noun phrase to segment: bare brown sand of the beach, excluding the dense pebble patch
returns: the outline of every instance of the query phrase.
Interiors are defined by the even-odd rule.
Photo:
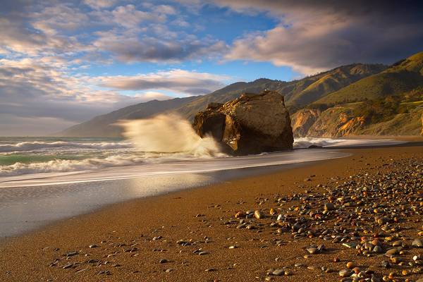
[[[298,245],[286,245],[282,251],[290,255],[284,259],[281,249],[257,247],[260,237],[265,238],[269,234],[236,232],[223,225],[223,219],[233,216],[240,206],[256,207],[260,197],[302,192],[317,183],[348,178],[363,169],[384,171],[382,163],[386,160],[422,155],[422,147],[406,145],[342,151],[353,155],[262,176],[112,204],[91,214],[75,216],[0,241],[0,280],[187,281],[188,278],[188,281],[262,281],[266,269],[275,263],[288,264],[288,257],[302,257],[304,251]],[[311,175],[315,176],[305,181]],[[153,240],[158,236],[161,238]],[[192,257],[191,252],[175,244],[177,240],[188,238],[199,241],[209,238],[210,243],[204,243],[202,247],[210,250],[211,255]],[[234,242],[240,247],[228,250],[228,245]],[[137,244],[133,246],[137,250],[113,253],[110,244],[116,243],[125,246]],[[99,247],[88,247],[93,244]],[[82,268],[49,266],[63,253],[78,250],[87,253],[88,259],[102,257],[110,263],[83,271],[80,271]],[[352,256],[348,253],[344,255]],[[275,262],[275,257],[282,258]],[[159,260],[164,258],[169,263],[159,264]],[[165,272],[169,267],[173,271]],[[204,271],[211,268],[216,271]],[[109,273],[98,274],[99,269],[107,269],[105,271]],[[333,279],[338,278],[337,273],[330,275]],[[327,276],[320,280],[312,271],[297,271],[286,278],[289,281],[327,281]]]

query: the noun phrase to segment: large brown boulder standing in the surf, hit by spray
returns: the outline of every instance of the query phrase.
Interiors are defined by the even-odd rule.
[[[274,91],[242,94],[212,103],[194,119],[201,137],[212,135],[232,154],[259,154],[293,148],[293,130],[283,96]]]

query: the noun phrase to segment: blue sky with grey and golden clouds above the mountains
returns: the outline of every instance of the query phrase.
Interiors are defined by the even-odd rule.
[[[423,51],[422,1],[0,0],[0,136]]]

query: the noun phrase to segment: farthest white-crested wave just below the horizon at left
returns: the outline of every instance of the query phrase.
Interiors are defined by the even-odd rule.
[[[97,142],[97,143],[79,143],[79,142],[20,142],[17,144],[1,144],[0,152],[24,152],[35,149],[59,148],[59,147],[75,147],[85,149],[125,149],[132,148],[129,142]]]

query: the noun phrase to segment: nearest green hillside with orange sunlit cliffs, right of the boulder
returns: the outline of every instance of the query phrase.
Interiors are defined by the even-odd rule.
[[[423,134],[423,52],[327,94],[292,116],[298,137]]]

